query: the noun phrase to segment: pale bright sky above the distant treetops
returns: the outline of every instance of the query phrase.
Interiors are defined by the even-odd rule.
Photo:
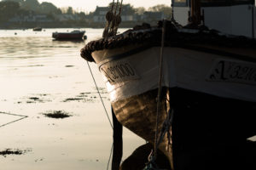
[[[117,0],[115,0],[116,2]],[[120,1],[120,0],[119,0]],[[152,7],[157,4],[171,5],[172,0],[123,0],[123,3],[130,3],[134,8],[137,7]],[[73,7],[77,11],[91,12],[96,9],[96,6],[107,6],[113,0],[38,0],[39,3],[48,2],[55,4],[58,8]]]

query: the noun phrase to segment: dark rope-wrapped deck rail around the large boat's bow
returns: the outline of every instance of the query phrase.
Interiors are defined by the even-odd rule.
[[[143,24],[142,26],[135,26],[133,29],[125,31],[117,36],[101,38],[96,41],[88,42],[84,48],[81,49],[81,56],[88,60],[94,61],[91,54],[94,51],[103,49],[113,49],[124,47],[131,44],[142,44],[148,46],[160,46],[162,33],[162,21],[159,21],[157,26],[150,26]],[[256,54],[256,40],[253,38],[232,36],[222,34],[216,30],[210,30],[206,26],[197,28],[181,27],[173,21],[166,23],[166,37],[165,46],[179,47],[179,48],[204,48],[211,47],[212,49],[218,48],[219,50],[227,50],[227,52],[238,52],[241,48],[247,48],[250,51],[249,56],[255,57]],[[231,49],[231,50],[230,50]],[[235,50],[235,51],[234,51]],[[243,54],[244,55],[244,54]]]

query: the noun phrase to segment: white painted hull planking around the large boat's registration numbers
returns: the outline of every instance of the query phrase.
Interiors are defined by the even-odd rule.
[[[118,48],[117,51],[119,51]],[[98,56],[100,54],[101,53],[95,53],[93,57],[101,57]],[[108,55],[108,50],[105,50],[104,54],[107,57],[111,57],[111,55]],[[113,50],[111,50],[111,54],[113,54]],[[158,88],[159,58],[160,48],[155,47],[149,48],[141,53],[131,54],[125,58],[110,61],[107,59],[106,62],[102,61],[98,63],[99,67],[105,65],[105,67],[108,68],[108,65],[111,66],[116,63],[127,62],[132,65],[132,68],[134,68],[139,77],[124,79],[125,81],[123,82],[118,81],[111,83],[108,81],[106,74],[102,74],[107,84],[111,101],[129,98],[133,95],[143,94],[148,90]],[[212,72],[212,67],[216,66],[216,59],[232,58],[184,48],[164,48],[163,86],[168,88],[185,88],[229,99],[256,102],[255,83],[209,81],[207,77],[209,77],[209,74]],[[244,62],[237,59],[232,59],[232,61],[236,63]],[[252,68],[256,68],[255,63],[247,63],[247,65],[252,65]],[[256,80],[256,71],[253,74]]]

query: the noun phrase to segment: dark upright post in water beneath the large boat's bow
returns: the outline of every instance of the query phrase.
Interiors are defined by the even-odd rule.
[[[118,122],[112,109],[113,119],[113,158],[112,170],[119,170],[120,162],[123,156],[123,126]]]

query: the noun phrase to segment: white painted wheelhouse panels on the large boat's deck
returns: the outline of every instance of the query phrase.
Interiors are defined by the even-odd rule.
[[[251,4],[203,7],[201,9],[204,10],[205,14],[205,25],[210,29],[215,29],[225,34],[253,37],[254,25],[254,32],[256,32],[256,9]],[[185,26],[188,24],[188,12],[189,7],[174,7],[174,19]]]

